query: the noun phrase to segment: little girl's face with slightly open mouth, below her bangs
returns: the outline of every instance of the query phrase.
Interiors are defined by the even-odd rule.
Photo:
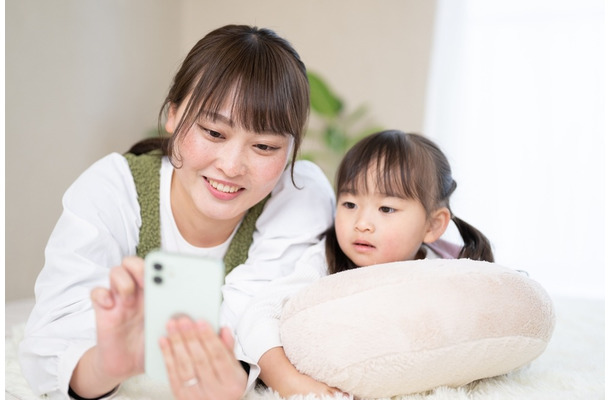
[[[335,232],[345,255],[359,267],[412,260],[430,239],[423,205],[379,193],[370,179],[367,193],[339,193]]]

